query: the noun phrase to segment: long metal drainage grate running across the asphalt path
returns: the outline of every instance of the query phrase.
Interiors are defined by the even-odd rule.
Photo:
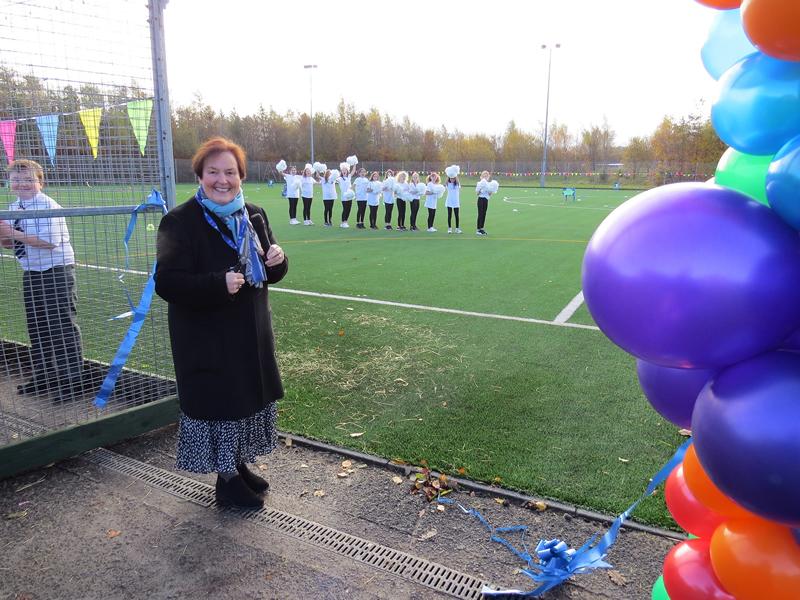
[[[201,506],[215,504],[214,488],[206,483],[159,469],[105,448],[93,450],[84,457],[97,465],[134,477],[195,504]],[[388,546],[382,546],[274,508],[265,507],[256,511],[224,510],[229,510],[248,521],[278,530],[377,569],[388,571],[403,579],[414,581],[437,592],[467,600],[481,598],[481,589],[485,582]],[[494,588],[494,586],[491,587]]]

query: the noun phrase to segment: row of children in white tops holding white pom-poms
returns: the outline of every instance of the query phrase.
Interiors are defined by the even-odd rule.
[[[436,209],[439,199],[447,193],[445,207],[447,208],[447,233],[462,233],[460,223],[461,209],[461,184],[458,180],[460,168],[451,165],[445,169],[447,182],[441,184],[441,177],[436,172],[431,172],[420,181],[420,175],[414,171],[409,176],[406,171],[397,174],[391,169],[386,171],[381,179],[378,171],[373,171],[367,176],[367,170],[360,168],[358,176],[353,179],[351,170],[355,170],[356,157],[348,157],[347,162],[339,165],[339,170],[328,169],[321,163],[307,164],[302,174],[297,173],[297,168],[292,166],[287,169],[285,161],[276,165],[277,170],[286,181],[286,198],[289,201],[289,224],[299,225],[297,219],[297,205],[303,199],[303,225],[313,225],[311,220],[311,203],[314,197],[314,185],[322,187],[322,202],[324,205],[323,220],[325,227],[332,227],[333,205],[339,199],[336,186],[339,186],[342,201],[342,220],[340,227],[350,227],[349,218],[353,201],[357,204],[356,228],[378,229],[378,208],[381,200],[384,207],[383,229],[391,230],[392,214],[397,206],[397,229],[399,231],[418,231],[417,214],[420,202],[428,210],[427,231],[437,231],[434,227]],[[475,186],[478,196],[478,221],[476,233],[487,235],[484,229],[486,212],[489,207],[489,198],[496,193],[499,185],[497,181],[489,181],[489,171],[481,173],[480,180]],[[409,227],[406,227],[406,208],[409,209]],[[367,216],[367,210],[369,215]],[[369,225],[365,219],[369,219]],[[455,219],[454,219],[455,218]],[[454,223],[455,220],[455,223]],[[455,225],[455,227],[453,226]]]

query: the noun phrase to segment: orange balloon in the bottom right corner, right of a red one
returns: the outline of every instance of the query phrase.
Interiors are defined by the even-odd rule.
[[[711,566],[737,600],[800,597],[800,544],[777,523],[726,521],[711,536]]]

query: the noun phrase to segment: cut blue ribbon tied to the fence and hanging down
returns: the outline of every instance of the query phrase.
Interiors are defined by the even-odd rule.
[[[131,212],[131,219],[128,222],[128,229],[125,231],[125,238],[123,240],[125,245],[126,269],[129,266],[128,242],[130,241],[131,236],[133,235],[133,230],[136,227],[136,218],[140,212],[153,207],[160,208],[163,214],[166,214],[167,212],[167,205],[164,202],[164,198],[156,189],[153,189],[147,199],[139,206],[134,208]],[[111,368],[108,371],[108,375],[106,375],[106,378],[103,380],[103,385],[100,386],[100,390],[97,392],[97,396],[94,399],[94,404],[98,408],[104,408],[108,403],[108,398],[111,396],[111,392],[114,391],[114,386],[117,384],[117,379],[119,378],[120,373],[122,373],[122,368],[128,361],[128,356],[130,355],[131,350],[133,350],[133,346],[136,344],[136,338],[139,336],[139,332],[142,330],[144,319],[150,310],[150,303],[153,301],[153,292],[156,289],[154,276],[156,273],[157,264],[158,263],[156,261],[153,261],[153,269],[150,271],[150,277],[148,277],[147,283],[145,283],[144,290],[142,291],[142,297],[139,299],[138,306],[133,306],[133,301],[131,300],[130,294],[128,293],[127,289],[125,290],[125,293],[128,296],[128,303],[130,304],[133,312],[133,320],[131,321],[130,327],[128,327],[128,331],[125,332],[125,337],[122,338],[122,343],[119,345],[119,348],[117,348],[117,353],[114,355],[114,360],[111,361]],[[122,281],[122,275],[120,275],[119,280]]]

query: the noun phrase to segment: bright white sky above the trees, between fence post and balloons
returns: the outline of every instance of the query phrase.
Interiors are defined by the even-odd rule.
[[[550,123],[574,134],[607,118],[626,143],[664,115],[709,114],[716,83],[700,48],[715,14],[694,0],[170,0],[171,102],[200,93],[226,112],[308,112],[314,63],[315,112],[343,98],[424,127],[501,134],[513,119],[538,133],[541,45],[560,43]]]

